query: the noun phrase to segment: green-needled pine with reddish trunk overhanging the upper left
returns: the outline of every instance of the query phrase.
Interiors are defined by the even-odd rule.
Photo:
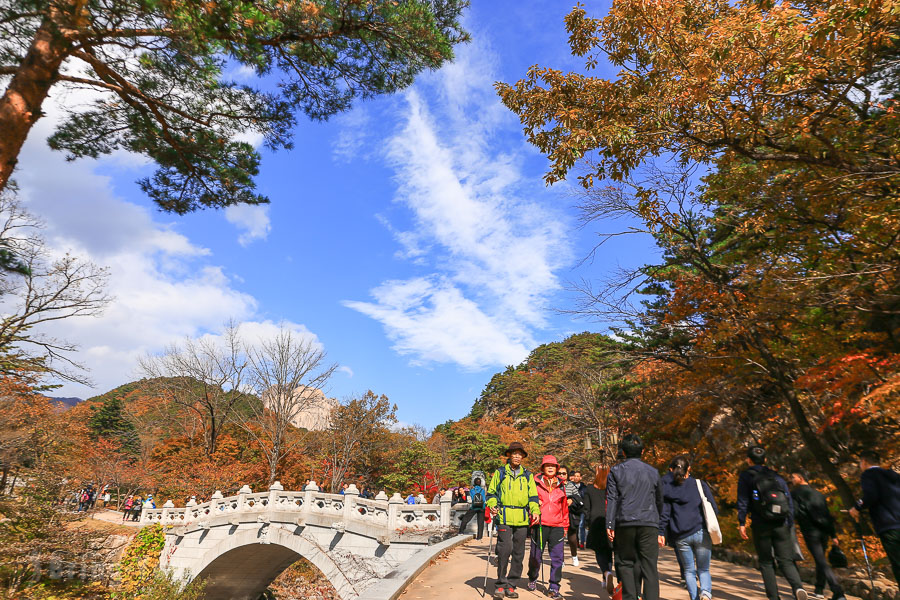
[[[391,93],[466,39],[464,0],[144,2],[16,0],[0,8],[0,191],[48,96],[89,90],[50,138],[71,158],[126,150],[157,171],[163,210],[267,199],[259,153],[290,147],[294,110],[315,119]],[[252,73],[255,85],[241,83]],[[242,136],[243,139],[239,138]]]

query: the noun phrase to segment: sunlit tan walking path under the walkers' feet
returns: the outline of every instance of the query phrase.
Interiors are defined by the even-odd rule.
[[[481,600],[484,588],[485,560],[488,540],[471,541],[457,547],[447,556],[435,561],[413,581],[401,596],[404,600],[431,600],[450,598],[452,600]],[[601,583],[602,573],[594,560],[594,553],[582,551],[579,555],[581,566],[573,567],[566,549],[566,563],[563,567],[561,592],[566,598],[597,598],[608,600]],[[546,558],[546,554],[545,554]],[[528,556],[525,556],[527,570]],[[496,567],[491,567],[488,578],[488,594],[494,591]],[[549,573],[549,565],[544,567]],[[687,591],[681,587],[678,563],[671,549],[660,550],[659,560],[660,598],[663,600],[687,600]],[[758,571],[714,560],[712,564],[713,597],[716,600],[766,600],[762,590],[762,578]],[[520,580],[516,591],[523,600],[546,598],[546,586],[538,584],[537,592],[525,589],[526,580]],[[779,578],[781,597],[792,598],[787,582]],[[812,589],[807,589],[812,597]],[[829,594],[830,595],[830,594]],[[851,596],[848,600],[858,600]]]

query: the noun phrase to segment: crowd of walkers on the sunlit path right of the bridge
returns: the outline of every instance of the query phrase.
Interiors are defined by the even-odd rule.
[[[592,484],[581,473],[544,456],[537,473],[523,466],[524,446],[512,443],[507,462],[490,477],[487,488],[476,479],[471,506],[460,524],[464,531],[478,518],[477,539],[484,533],[485,515],[496,532],[497,577],[493,597],[517,598],[516,588],[528,563],[526,587],[537,589],[538,575],[549,558],[546,594],[560,598],[566,544],[573,566],[578,550],[590,549],[603,573],[598,586],[622,600],[659,600],[659,549],[673,547],[682,586],[691,600],[712,600],[712,547],[721,543],[719,509],[712,488],[691,472],[688,455],[672,458],[662,476],[641,460],[644,445],[635,434],[619,444],[617,464],[598,467]],[[737,526],[743,539],[753,539],[759,571],[769,600],[780,600],[776,568],[796,600],[824,600],[826,584],[832,600],[845,600],[829,561],[846,556],[840,550],[836,521],[825,496],[809,483],[802,468],[787,480],[767,464],[761,446],[747,450],[747,466],[738,477]],[[868,511],[881,538],[895,578],[900,577],[900,475],[879,465],[877,453],[861,453],[862,498],[850,510],[858,520]],[[483,496],[480,494],[483,493]],[[481,498],[484,498],[483,502]],[[749,519],[749,525],[748,525]],[[813,590],[800,578],[795,555],[796,533],[803,535],[816,565]],[[528,544],[530,540],[530,546]],[[826,555],[829,543],[831,552]]]

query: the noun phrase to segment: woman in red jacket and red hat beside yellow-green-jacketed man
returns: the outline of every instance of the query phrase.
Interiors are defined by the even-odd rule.
[[[541,472],[535,476],[538,499],[541,505],[540,523],[532,523],[531,554],[528,557],[528,589],[537,587],[544,546],[550,550],[550,598],[561,598],[559,582],[562,580],[563,549],[566,528],[569,526],[569,503],[563,482],[556,476],[559,464],[550,455],[541,461]]]

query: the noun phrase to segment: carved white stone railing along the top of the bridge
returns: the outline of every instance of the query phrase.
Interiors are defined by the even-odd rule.
[[[460,516],[467,504],[451,506],[451,494],[447,492],[440,504],[406,504],[400,494],[388,498],[381,492],[374,500],[359,497],[359,490],[350,485],[343,494],[328,494],[311,482],[302,492],[285,491],[275,482],[267,492],[252,492],[242,487],[236,496],[223,497],[216,491],[208,502],[197,503],[193,497],[184,508],[176,508],[171,500],[162,508],[145,508],[141,511],[141,523],[160,523],[163,526],[182,528],[188,525],[207,527],[224,518],[233,525],[246,520],[268,521],[275,516],[280,521],[290,520],[297,525],[315,522],[336,530],[364,529],[383,536],[403,532],[439,533],[458,527]],[[354,527],[355,526],[355,527]]]

